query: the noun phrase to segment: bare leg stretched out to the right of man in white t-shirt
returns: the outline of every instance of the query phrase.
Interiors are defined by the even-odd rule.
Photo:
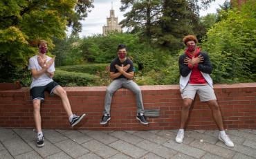
[[[73,115],[71,111],[71,105],[68,100],[68,96],[66,95],[66,91],[62,88],[62,86],[58,86],[53,91],[55,95],[58,95],[62,100],[62,106],[64,107],[66,113],[68,114],[68,118]]]

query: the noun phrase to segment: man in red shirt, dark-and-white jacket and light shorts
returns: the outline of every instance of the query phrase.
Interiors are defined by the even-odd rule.
[[[207,53],[201,52],[196,47],[197,39],[194,35],[188,35],[183,38],[187,49],[179,57],[180,69],[180,87],[183,106],[181,109],[181,125],[176,136],[176,142],[182,143],[184,138],[185,122],[188,120],[190,106],[198,93],[201,102],[206,102],[212,109],[212,116],[219,127],[219,140],[224,142],[228,147],[234,147],[233,142],[228,138],[223,127],[223,120],[219,104],[214,94],[212,79],[212,64]]]

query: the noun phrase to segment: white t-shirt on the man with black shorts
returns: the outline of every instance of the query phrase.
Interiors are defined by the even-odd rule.
[[[38,57],[38,55],[30,57],[29,64],[28,64],[28,70],[31,70],[32,68],[35,68],[37,71],[42,70],[42,67],[39,66],[39,64],[38,64],[37,57]],[[46,62],[49,62],[50,59],[51,59],[51,57],[46,56]],[[54,67],[54,62],[53,62],[53,64],[50,66],[50,68],[48,68],[48,72],[52,73],[54,71],[55,71],[55,67]],[[44,73],[37,79],[32,77],[32,83],[30,85],[30,88],[33,88],[34,86],[45,86],[46,84],[48,84],[50,82],[53,82],[53,79],[51,79],[50,77],[48,77],[48,75],[46,75],[46,73]]]

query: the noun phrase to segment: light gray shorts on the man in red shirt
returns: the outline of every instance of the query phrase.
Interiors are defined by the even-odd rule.
[[[209,84],[188,84],[181,91],[182,99],[190,98],[194,100],[194,96],[198,93],[201,102],[216,100],[213,88]]]

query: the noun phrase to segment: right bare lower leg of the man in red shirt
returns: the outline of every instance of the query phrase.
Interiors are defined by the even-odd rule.
[[[217,124],[217,127],[219,127],[220,130],[224,130],[221,111],[219,109],[219,104],[217,103],[217,100],[210,100],[206,103],[208,104],[210,109],[212,109],[212,116]]]

